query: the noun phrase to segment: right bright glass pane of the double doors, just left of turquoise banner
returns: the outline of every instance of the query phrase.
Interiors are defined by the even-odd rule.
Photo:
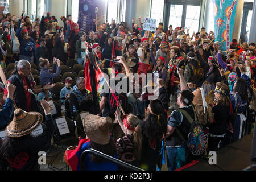
[[[200,6],[187,6],[185,28],[189,29],[189,35],[197,32],[200,18]]]

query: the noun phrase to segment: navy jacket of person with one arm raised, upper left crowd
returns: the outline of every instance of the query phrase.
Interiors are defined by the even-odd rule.
[[[34,39],[32,39],[31,37],[28,37],[28,39],[23,39],[23,37],[21,35],[21,28],[20,27],[19,27],[16,34],[17,34],[17,37],[18,37],[19,43],[20,43],[20,47],[19,47],[20,53],[19,53],[19,55],[32,57],[33,53],[36,50],[36,43],[35,43]],[[28,44],[30,44],[31,46],[27,46]],[[26,51],[26,47],[32,47],[32,51]]]

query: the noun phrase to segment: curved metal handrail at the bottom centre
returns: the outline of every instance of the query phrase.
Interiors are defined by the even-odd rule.
[[[141,168],[138,168],[138,167],[135,167],[131,164],[128,164],[128,163],[125,163],[123,162],[122,160],[119,160],[119,159],[115,159],[113,158],[112,156],[109,156],[109,155],[106,155],[102,152],[99,152],[97,150],[94,150],[93,148],[90,148],[90,149],[87,149],[85,151],[82,152],[81,156],[80,156],[80,170],[83,171],[85,169],[85,165],[84,165],[84,162],[85,162],[85,154],[94,154],[94,155],[99,155],[101,156],[102,158],[106,159],[106,160],[109,160],[110,162],[112,163],[115,163],[117,164],[118,166],[121,166],[121,167],[125,167],[127,169],[130,169],[131,171],[144,171],[143,169]]]

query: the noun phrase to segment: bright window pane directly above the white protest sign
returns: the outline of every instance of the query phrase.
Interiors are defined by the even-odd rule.
[[[152,0],[150,18],[156,19],[156,26],[163,22],[164,0]]]

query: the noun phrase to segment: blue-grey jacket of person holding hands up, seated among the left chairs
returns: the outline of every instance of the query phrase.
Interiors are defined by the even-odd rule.
[[[57,70],[56,70],[56,64],[53,64],[52,70],[49,70],[48,68],[42,68],[40,72],[40,84],[41,85],[48,84],[48,83],[53,84],[52,78],[59,77],[60,71],[61,71],[60,67],[57,67]]]

